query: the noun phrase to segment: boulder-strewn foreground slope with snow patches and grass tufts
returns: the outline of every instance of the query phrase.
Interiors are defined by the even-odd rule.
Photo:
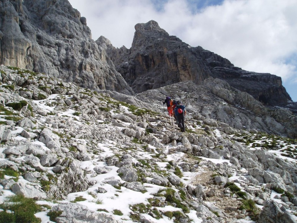
[[[179,86],[188,109],[181,133],[162,105],[174,85],[116,94],[148,110],[113,92],[0,69],[2,209],[19,194],[37,200],[44,223],[296,222],[296,140],[233,128],[240,120],[228,111],[230,125],[213,117],[218,96],[206,85],[220,80]],[[200,99],[191,91],[208,97],[209,110],[193,111]]]

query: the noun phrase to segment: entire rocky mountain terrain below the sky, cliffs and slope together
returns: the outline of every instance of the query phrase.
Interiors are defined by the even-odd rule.
[[[135,30],[118,49],[67,0],[0,1],[0,223],[297,222],[281,78]]]

